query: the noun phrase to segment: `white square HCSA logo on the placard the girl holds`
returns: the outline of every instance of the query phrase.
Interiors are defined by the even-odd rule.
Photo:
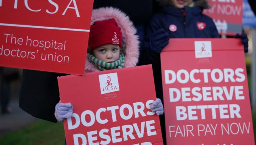
[[[119,91],[118,74],[110,73],[99,75],[101,94]]]

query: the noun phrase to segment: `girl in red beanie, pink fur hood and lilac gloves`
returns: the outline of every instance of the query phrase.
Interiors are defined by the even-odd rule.
[[[93,10],[85,72],[136,66],[139,53],[135,33],[132,22],[120,10]],[[164,113],[160,99],[156,99],[150,107],[157,115]],[[55,106],[55,116],[60,122],[72,114],[71,103],[58,103]]]

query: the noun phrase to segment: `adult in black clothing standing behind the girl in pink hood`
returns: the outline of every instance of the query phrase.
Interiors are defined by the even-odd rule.
[[[94,0],[93,8],[112,6],[124,11],[144,36],[144,24],[153,12],[153,0]],[[67,75],[36,70],[24,70],[19,107],[36,118],[57,122],[54,113],[59,102],[57,77]]]

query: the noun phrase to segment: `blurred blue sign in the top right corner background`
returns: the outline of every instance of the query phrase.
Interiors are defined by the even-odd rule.
[[[256,27],[256,17],[248,0],[243,0],[243,26]]]

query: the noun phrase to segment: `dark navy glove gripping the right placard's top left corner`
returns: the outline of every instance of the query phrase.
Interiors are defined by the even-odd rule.
[[[153,50],[153,52],[160,53],[169,43],[169,39],[169,33],[163,28],[155,31],[153,36],[150,37],[151,50]]]

